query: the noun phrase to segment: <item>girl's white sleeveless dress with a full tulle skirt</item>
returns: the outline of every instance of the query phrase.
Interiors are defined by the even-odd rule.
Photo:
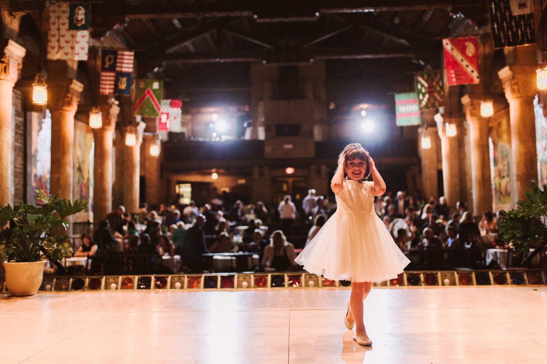
[[[381,282],[397,278],[410,260],[374,211],[373,182],[344,180],[336,212],[296,257],[310,273],[333,280]]]

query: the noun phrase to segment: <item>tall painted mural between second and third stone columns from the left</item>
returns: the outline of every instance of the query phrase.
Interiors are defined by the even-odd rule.
[[[93,204],[93,163],[95,143],[91,128],[74,121],[74,198],[89,201],[88,207],[76,214],[74,221],[91,220]]]

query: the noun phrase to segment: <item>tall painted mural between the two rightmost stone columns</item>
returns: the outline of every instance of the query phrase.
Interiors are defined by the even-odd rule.
[[[490,173],[494,210],[511,207],[511,131],[509,110],[492,117],[490,122]]]

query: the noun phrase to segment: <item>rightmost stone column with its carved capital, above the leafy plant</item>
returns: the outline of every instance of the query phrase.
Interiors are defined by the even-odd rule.
[[[526,199],[525,192],[530,181],[538,178],[536,118],[533,104],[537,93],[536,68],[535,64],[513,64],[498,72],[505,98],[509,102],[513,206],[519,199]]]

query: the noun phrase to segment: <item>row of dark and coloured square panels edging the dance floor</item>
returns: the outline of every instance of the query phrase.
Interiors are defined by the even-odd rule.
[[[409,271],[374,283],[383,288],[442,286],[543,286],[547,270]],[[106,276],[44,276],[39,291],[350,289],[349,281],[333,281],[310,273],[203,273]],[[0,278],[0,292],[8,292]]]

